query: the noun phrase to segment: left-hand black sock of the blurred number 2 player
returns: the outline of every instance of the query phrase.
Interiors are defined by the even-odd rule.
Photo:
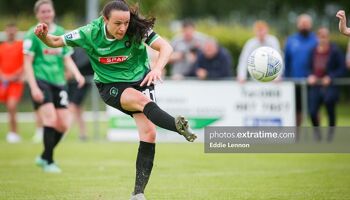
[[[44,152],[41,157],[48,162],[48,164],[53,163],[53,149],[56,144],[55,140],[56,130],[52,127],[44,126]]]

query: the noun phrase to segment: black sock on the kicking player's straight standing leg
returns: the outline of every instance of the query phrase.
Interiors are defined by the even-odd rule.
[[[156,144],[140,141],[136,160],[136,180],[134,194],[144,193],[153,168]]]

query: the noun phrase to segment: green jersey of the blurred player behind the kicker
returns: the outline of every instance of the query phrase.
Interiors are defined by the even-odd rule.
[[[64,85],[64,57],[73,53],[71,47],[50,48],[45,45],[34,34],[34,27],[26,33],[23,42],[23,51],[25,54],[32,55],[33,72],[36,79],[46,81],[54,85]],[[62,35],[64,29],[58,25],[50,26],[49,33],[52,35]]]

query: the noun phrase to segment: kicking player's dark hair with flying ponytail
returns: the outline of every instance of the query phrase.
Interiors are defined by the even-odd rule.
[[[156,21],[155,17],[144,18],[140,16],[138,5],[129,7],[125,0],[114,0],[107,3],[102,10],[102,15],[109,19],[113,10],[130,12],[130,22],[126,34],[139,43],[147,37],[148,31],[153,28]]]

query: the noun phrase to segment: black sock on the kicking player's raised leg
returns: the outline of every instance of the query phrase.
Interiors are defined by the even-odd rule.
[[[146,104],[143,113],[155,125],[170,131],[178,132],[175,125],[175,118],[159,108],[153,101]]]

